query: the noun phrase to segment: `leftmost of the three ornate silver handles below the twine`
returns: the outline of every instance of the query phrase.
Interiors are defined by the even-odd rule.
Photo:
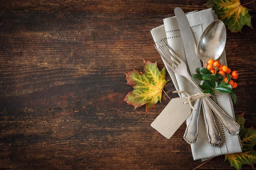
[[[185,141],[189,144],[195,143],[198,139],[198,122],[201,108],[201,99],[197,99],[195,101],[194,108],[196,110],[192,110],[188,125],[186,127],[186,131],[183,136]]]

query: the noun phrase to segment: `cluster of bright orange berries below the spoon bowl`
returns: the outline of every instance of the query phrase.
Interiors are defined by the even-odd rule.
[[[222,65],[218,62],[218,60],[213,60],[213,59],[209,59],[207,62],[207,69],[209,71],[212,72],[212,74],[216,74],[216,72],[218,72],[218,74],[221,74],[223,77],[226,74],[230,74],[231,73],[231,69],[227,67],[227,65]],[[232,79],[237,79],[238,78],[238,72],[237,71],[233,71],[232,74],[230,74],[230,77]],[[226,77],[223,79],[223,82],[227,82],[227,75]],[[237,87],[237,83],[234,82],[233,80],[230,80],[229,82],[227,82],[228,84],[230,84],[233,88]]]

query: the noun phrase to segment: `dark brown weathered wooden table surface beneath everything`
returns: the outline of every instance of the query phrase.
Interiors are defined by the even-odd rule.
[[[250,0],[242,0],[248,3]],[[150,30],[174,15],[202,10],[205,0],[1,0],[0,169],[193,169],[183,124],[166,139],[123,101],[133,88],[124,72],[142,57],[163,62]],[[247,8],[256,27],[256,3]],[[239,71],[235,113],[256,124],[256,34],[227,31],[228,66]],[[167,75],[167,79],[170,79]],[[172,81],[165,91],[177,97]],[[244,165],[244,169],[252,169]],[[230,169],[218,156],[199,169]],[[231,169],[234,169],[233,167]]]

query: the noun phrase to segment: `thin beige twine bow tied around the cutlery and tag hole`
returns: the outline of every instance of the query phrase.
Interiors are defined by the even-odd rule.
[[[214,91],[215,94],[220,93],[219,91]],[[186,101],[184,102],[184,104],[189,103],[190,107],[196,111],[196,109],[194,108],[194,106],[192,105],[192,101],[195,101],[196,99],[200,99],[200,98],[204,98],[204,97],[209,97],[212,96],[209,93],[198,93],[198,94],[193,94],[193,95],[189,95],[186,91],[173,91],[172,93],[184,93],[186,94],[187,97],[184,97],[186,99]]]

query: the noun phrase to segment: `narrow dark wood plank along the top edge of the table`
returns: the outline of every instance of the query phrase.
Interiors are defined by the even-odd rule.
[[[252,0],[241,0],[241,4],[250,3]],[[184,11],[201,10],[207,0],[3,0],[1,9],[35,10],[35,11],[85,11],[106,13],[173,13],[174,8],[181,7]],[[255,4],[246,5],[255,12]]]

